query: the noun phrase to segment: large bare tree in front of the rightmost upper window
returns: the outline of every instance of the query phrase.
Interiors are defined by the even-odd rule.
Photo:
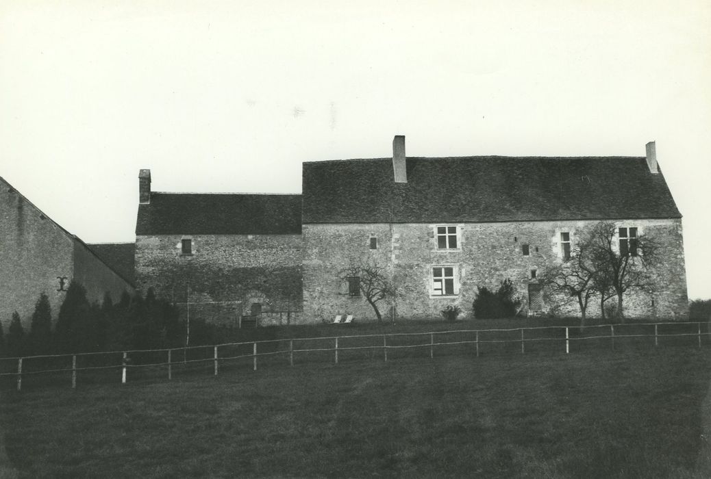
[[[624,319],[624,294],[652,287],[648,266],[655,261],[656,243],[639,235],[636,227],[619,227],[614,222],[597,223],[583,241],[595,266],[594,283],[603,318],[604,302],[617,296],[616,313]]]

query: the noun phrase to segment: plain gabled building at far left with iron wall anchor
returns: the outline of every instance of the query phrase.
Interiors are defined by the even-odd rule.
[[[70,281],[87,290],[89,301],[106,292],[118,301],[134,293],[132,281],[107,265],[81,239],[45,215],[0,178],[0,321],[4,330],[17,311],[28,330],[35,303],[46,293],[56,320]]]

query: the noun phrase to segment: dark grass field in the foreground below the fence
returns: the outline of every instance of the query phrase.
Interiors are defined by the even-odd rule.
[[[6,391],[0,477],[706,478],[710,384],[648,348]]]

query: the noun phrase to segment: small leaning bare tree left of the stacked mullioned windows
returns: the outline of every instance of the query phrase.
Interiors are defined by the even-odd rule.
[[[378,323],[383,322],[383,315],[378,308],[378,302],[393,299],[397,289],[385,267],[375,261],[351,260],[346,269],[339,274],[341,280],[348,282],[351,296],[363,295],[365,301],[375,311]]]

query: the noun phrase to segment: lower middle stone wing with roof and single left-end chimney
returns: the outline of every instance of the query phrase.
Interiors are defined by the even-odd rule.
[[[157,193],[141,170],[135,248],[137,288],[183,319],[299,321],[301,195]]]

